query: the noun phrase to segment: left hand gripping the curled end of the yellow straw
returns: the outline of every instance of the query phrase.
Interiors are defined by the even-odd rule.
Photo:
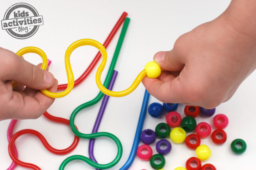
[[[0,121],[5,119],[37,119],[54,102],[40,90],[56,92],[58,80],[15,53],[0,48]],[[13,90],[12,81],[19,82]],[[26,88],[24,89],[24,86]]]

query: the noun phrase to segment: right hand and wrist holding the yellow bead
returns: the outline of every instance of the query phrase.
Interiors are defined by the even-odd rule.
[[[252,12],[240,4],[252,16],[239,18],[243,15],[241,9],[235,14],[230,11],[236,2],[215,20],[179,37],[171,51],[154,55],[154,61],[167,71],[162,71],[158,79],[143,79],[151,95],[165,103],[206,109],[215,108],[234,95],[256,68],[256,3],[251,2]],[[242,19],[247,19],[249,25]]]

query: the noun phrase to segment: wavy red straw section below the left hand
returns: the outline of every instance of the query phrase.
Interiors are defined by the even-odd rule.
[[[47,119],[51,120],[51,121],[59,122],[59,123],[63,123],[63,124],[69,125],[69,120],[63,119],[63,118],[61,118],[61,117],[52,116],[52,115],[50,115],[48,112],[45,112],[45,113],[44,113],[44,116],[45,116]],[[33,164],[24,163],[24,162],[20,161],[20,160],[16,157],[16,155],[15,155],[15,153],[14,153],[14,142],[15,142],[15,140],[16,140],[18,137],[20,137],[21,135],[24,135],[24,134],[32,134],[32,135],[37,136],[37,137],[41,140],[41,142],[43,143],[43,145],[45,146],[45,148],[46,148],[47,150],[49,150],[49,151],[52,152],[53,154],[57,154],[57,155],[68,154],[69,152],[71,152],[72,150],[74,150],[74,149],[76,148],[76,146],[78,145],[78,142],[79,142],[79,137],[77,137],[77,136],[75,135],[73,143],[72,143],[68,148],[63,149],[63,150],[58,150],[58,149],[52,148],[52,146],[50,146],[50,144],[48,144],[48,142],[46,141],[45,137],[44,137],[41,133],[39,133],[39,132],[37,132],[37,131],[35,131],[35,130],[32,130],[32,129],[24,129],[24,130],[21,130],[21,131],[15,133],[15,134],[13,135],[13,137],[11,137],[11,140],[9,141],[9,146],[8,146],[9,155],[10,155],[11,159],[13,160],[13,162],[14,162],[15,164],[20,165],[20,166],[23,166],[23,167],[26,167],[26,168],[32,168],[32,169],[34,169]],[[35,167],[37,167],[37,166],[35,166]],[[36,168],[35,168],[35,169],[36,169]]]

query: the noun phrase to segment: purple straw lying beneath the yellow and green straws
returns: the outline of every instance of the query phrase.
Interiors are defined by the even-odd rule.
[[[114,70],[112,78],[111,78],[109,86],[108,86],[108,90],[112,90],[112,88],[114,86],[114,83],[115,83],[115,79],[117,78],[117,73],[118,73],[118,71]],[[104,111],[106,109],[106,106],[108,104],[108,99],[109,99],[109,96],[108,95],[104,95],[104,98],[103,98],[102,104],[100,106],[100,110],[99,110],[98,116],[97,116],[95,124],[93,126],[93,132],[92,133],[98,132],[98,128],[100,126],[100,122],[101,122],[102,116],[103,116]],[[91,160],[93,160],[94,162],[98,163],[96,161],[95,157],[94,157],[94,154],[93,154],[94,143],[95,143],[95,139],[90,139],[90,142],[89,142],[89,157],[90,157]],[[96,170],[100,170],[100,169],[97,169],[97,168],[95,168],[95,169]]]

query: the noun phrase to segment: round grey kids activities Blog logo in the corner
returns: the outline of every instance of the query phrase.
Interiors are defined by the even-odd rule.
[[[43,25],[43,16],[40,16],[33,6],[18,3],[7,9],[1,24],[2,29],[12,37],[26,39],[32,37],[39,26]]]

